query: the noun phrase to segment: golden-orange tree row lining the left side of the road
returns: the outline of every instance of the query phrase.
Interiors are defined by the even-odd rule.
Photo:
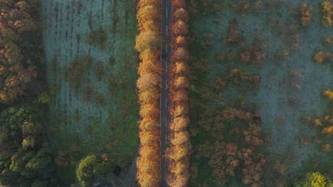
[[[162,11],[159,0],[140,0],[137,4],[139,34],[136,50],[140,53],[137,91],[139,94],[139,157],[137,181],[140,186],[159,186],[159,90],[162,66],[159,63]]]

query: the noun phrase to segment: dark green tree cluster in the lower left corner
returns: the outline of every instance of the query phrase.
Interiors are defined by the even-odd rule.
[[[31,104],[10,107],[0,115],[0,183],[48,186],[55,176],[51,149],[44,140],[43,112]]]

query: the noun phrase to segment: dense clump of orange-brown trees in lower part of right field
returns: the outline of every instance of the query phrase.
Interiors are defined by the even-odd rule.
[[[263,164],[266,162],[258,150],[258,147],[263,145],[259,119],[257,113],[250,113],[241,108],[228,107],[223,111],[201,113],[199,125],[204,131],[211,132],[212,137],[218,137],[218,140],[199,145],[194,157],[208,159],[212,179],[241,174],[243,183],[259,186]],[[238,123],[235,123],[236,121]],[[228,127],[227,123],[235,126]]]

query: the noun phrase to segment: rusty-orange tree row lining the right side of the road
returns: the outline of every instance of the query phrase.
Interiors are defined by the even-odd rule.
[[[169,147],[166,148],[166,183],[168,186],[187,186],[189,181],[189,154],[191,143],[189,132],[189,52],[186,35],[189,20],[185,0],[171,1],[174,11],[171,13],[171,52],[169,65]]]

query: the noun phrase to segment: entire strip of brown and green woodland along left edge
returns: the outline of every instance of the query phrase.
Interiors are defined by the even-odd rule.
[[[0,184],[6,186],[50,186],[56,176],[43,134],[41,104],[51,98],[43,91],[37,8],[38,0],[0,1]]]

